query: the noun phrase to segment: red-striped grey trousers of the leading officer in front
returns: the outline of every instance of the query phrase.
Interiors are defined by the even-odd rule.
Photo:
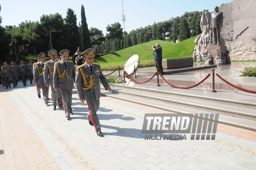
[[[89,114],[86,115],[86,118],[91,121],[95,127],[95,131],[99,132],[100,129],[100,120],[97,115],[97,111],[99,110],[100,106],[100,99],[97,100],[86,100],[88,105]]]

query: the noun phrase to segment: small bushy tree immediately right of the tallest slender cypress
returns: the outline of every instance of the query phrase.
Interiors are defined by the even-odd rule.
[[[89,30],[91,43],[92,45],[97,45],[98,53],[99,53],[99,46],[102,44],[102,41],[105,41],[104,34],[98,28],[91,27]]]

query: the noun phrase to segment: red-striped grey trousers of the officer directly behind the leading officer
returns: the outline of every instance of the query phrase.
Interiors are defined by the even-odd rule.
[[[72,105],[72,91],[73,91],[73,88],[71,88],[71,89],[60,89],[60,88],[58,88],[58,90],[61,92],[65,114],[70,115],[70,112],[72,112],[71,105]]]

